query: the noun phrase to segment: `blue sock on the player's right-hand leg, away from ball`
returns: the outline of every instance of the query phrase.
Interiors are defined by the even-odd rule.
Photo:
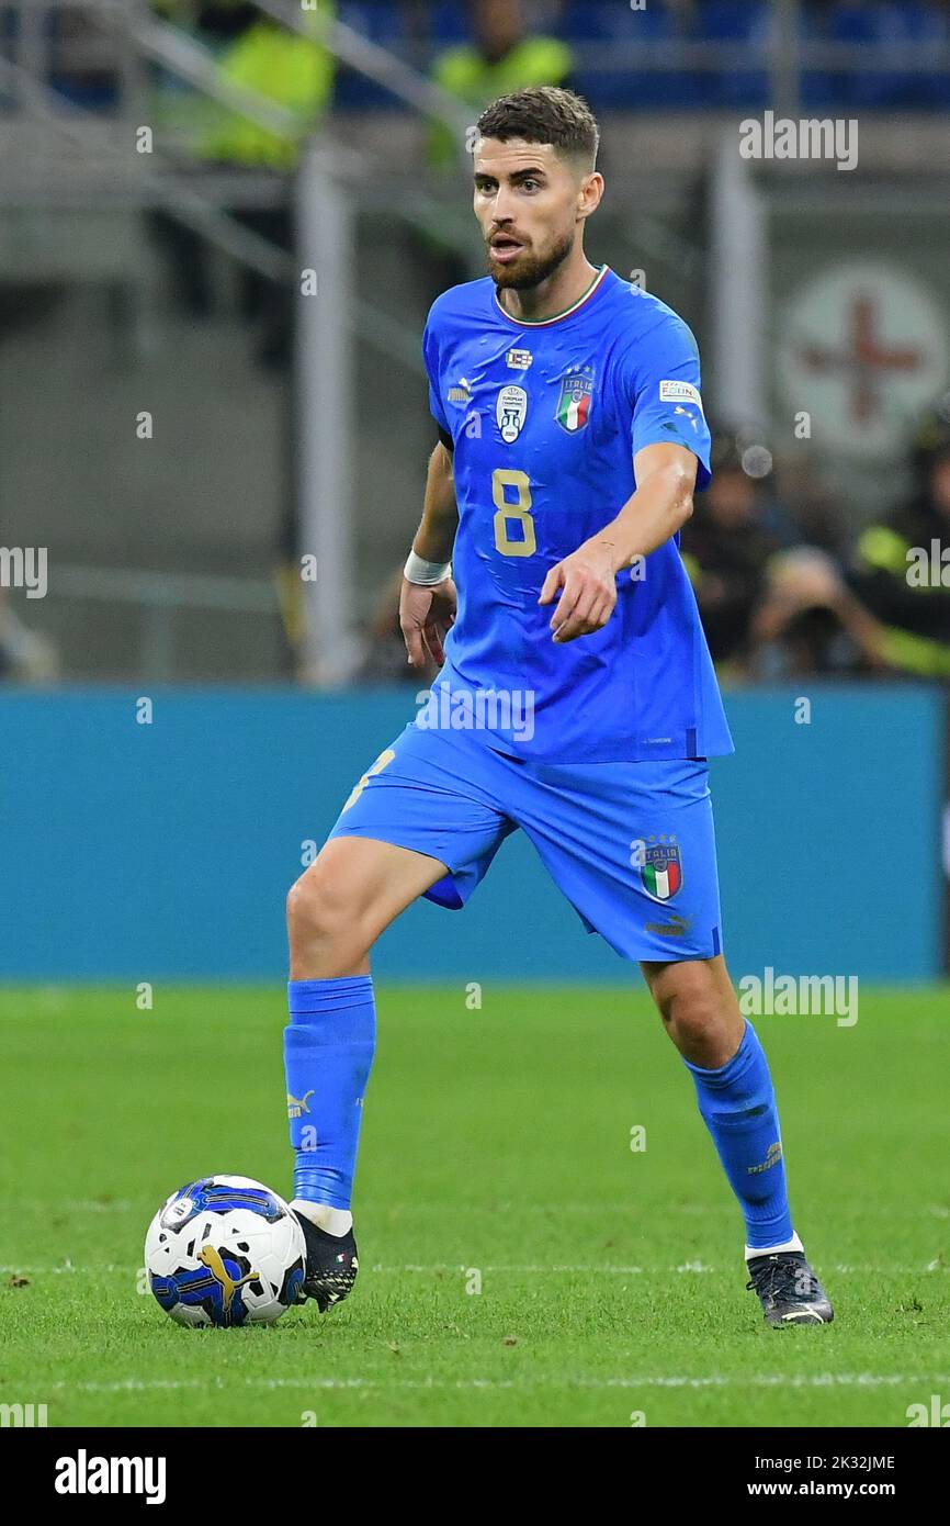
[[[695,1080],[700,1112],[740,1199],[750,1250],[791,1239],[782,1135],[765,1051],[750,1022],[720,1070],[683,1062]]]

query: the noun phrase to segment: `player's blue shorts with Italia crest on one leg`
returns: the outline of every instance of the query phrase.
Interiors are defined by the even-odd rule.
[[[331,836],[375,838],[448,870],[427,899],[464,906],[520,827],[581,917],[622,958],[721,952],[703,760],[532,763],[482,732],[412,722],[363,775]]]

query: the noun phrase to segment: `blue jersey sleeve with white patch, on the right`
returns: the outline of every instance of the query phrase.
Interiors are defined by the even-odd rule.
[[[633,403],[631,447],[676,444],[698,461],[697,491],[709,470],[709,426],[700,394],[700,353],[692,333],[676,313],[665,314],[636,346],[628,371]]]

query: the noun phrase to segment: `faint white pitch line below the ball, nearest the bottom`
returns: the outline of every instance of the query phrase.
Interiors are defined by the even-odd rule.
[[[116,1378],[111,1383],[53,1383],[52,1389],[76,1393],[146,1393],[174,1389],[878,1389],[898,1387],[904,1383],[947,1384],[948,1375],[941,1373],[877,1373],[877,1372],[828,1372],[828,1373],[753,1373],[752,1376],[636,1376],[636,1378]]]

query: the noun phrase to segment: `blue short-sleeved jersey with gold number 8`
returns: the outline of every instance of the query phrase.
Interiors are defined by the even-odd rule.
[[[422,353],[459,507],[459,607],[430,711],[438,696],[450,726],[468,714],[493,746],[547,761],[732,752],[679,536],[618,574],[602,630],[561,645],[557,606],[538,604],[547,569],[634,491],[643,446],[686,446],[697,485],[709,481],[698,353],[682,319],[607,266],[541,322],[505,313],[485,276],[438,298]]]

